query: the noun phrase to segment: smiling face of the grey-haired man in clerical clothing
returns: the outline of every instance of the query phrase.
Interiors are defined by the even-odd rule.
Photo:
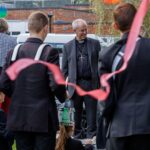
[[[78,40],[83,40],[86,38],[87,36],[87,26],[82,24],[80,25],[76,30],[75,30],[75,33],[76,33],[76,37]]]

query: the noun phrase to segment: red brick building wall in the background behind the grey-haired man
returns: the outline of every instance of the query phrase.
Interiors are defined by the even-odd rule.
[[[89,25],[89,33],[96,32],[96,15],[89,10],[77,10],[74,8],[45,8],[45,9],[9,9],[7,20],[27,20],[33,11],[43,11],[46,14],[51,13],[52,24],[51,31],[53,33],[72,33],[71,23],[74,19],[82,18]]]

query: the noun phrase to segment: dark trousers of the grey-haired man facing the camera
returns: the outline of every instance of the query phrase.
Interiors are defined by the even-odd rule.
[[[80,80],[77,83],[84,90],[91,90],[91,81]],[[74,108],[75,108],[75,138],[82,137],[82,114],[83,114],[83,103],[85,104],[87,131],[86,138],[93,138],[96,135],[96,116],[97,116],[97,101],[90,96],[79,96],[74,94],[72,97]]]

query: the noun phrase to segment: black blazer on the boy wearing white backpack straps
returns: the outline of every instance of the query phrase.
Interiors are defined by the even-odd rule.
[[[34,58],[40,39],[29,38],[19,49],[17,59]],[[6,64],[0,77],[0,90],[11,95],[12,101],[8,113],[7,127],[14,131],[48,132],[58,129],[58,116],[55,96],[61,102],[65,100],[65,88],[58,86],[51,72],[42,64],[24,69],[10,86],[5,69],[10,65],[12,52],[6,58]],[[59,54],[46,46],[40,60],[59,65]]]

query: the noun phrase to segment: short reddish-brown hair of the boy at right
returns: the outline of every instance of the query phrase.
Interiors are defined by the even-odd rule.
[[[131,3],[121,3],[113,11],[114,21],[120,31],[130,30],[136,14],[136,8]]]

